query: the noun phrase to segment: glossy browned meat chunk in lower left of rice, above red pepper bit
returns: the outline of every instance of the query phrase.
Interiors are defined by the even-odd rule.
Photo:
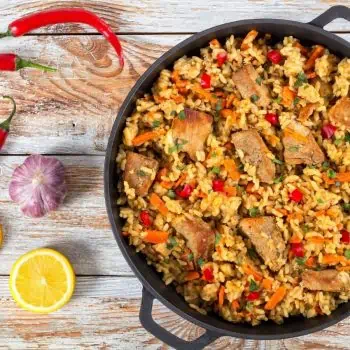
[[[214,251],[215,234],[212,228],[203,220],[178,216],[172,222],[174,229],[187,240],[187,247],[191,249],[194,261],[199,258],[209,259]]]

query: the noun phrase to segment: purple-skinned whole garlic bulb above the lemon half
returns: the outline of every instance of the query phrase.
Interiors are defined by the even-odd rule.
[[[57,209],[67,194],[63,164],[54,157],[29,156],[13,172],[9,194],[26,216],[38,218]]]

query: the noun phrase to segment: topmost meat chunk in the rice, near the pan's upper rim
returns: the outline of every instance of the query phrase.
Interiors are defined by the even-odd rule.
[[[232,80],[243,98],[250,99],[256,95],[259,98],[256,104],[267,107],[271,102],[269,89],[264,84],[259,85],[256,82],[257,78],[259,78],[259,74],[251,64],[243,66],[232,75]]]

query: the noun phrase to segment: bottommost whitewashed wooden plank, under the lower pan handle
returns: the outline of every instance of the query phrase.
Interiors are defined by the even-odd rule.
[[[10,298],[7,284],[7,278],[0,277],[0,349],[169,349],[139,322],[141,285],[136,278],[79,277],[71,302],[49,316],[20,310]],[[159,302],[153,317],[186,340],[203,332]],[[223,337],[207,349],[345,349],[350,340],[349,325],[350,319],[283,341]]]

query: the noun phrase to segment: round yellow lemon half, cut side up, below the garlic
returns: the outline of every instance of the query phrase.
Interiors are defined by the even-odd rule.
[[[75,275],[65,256],[53,249],[36,249],[21,256],[13,265],[10,291],[23,309],[50,313],[72,297]]]

